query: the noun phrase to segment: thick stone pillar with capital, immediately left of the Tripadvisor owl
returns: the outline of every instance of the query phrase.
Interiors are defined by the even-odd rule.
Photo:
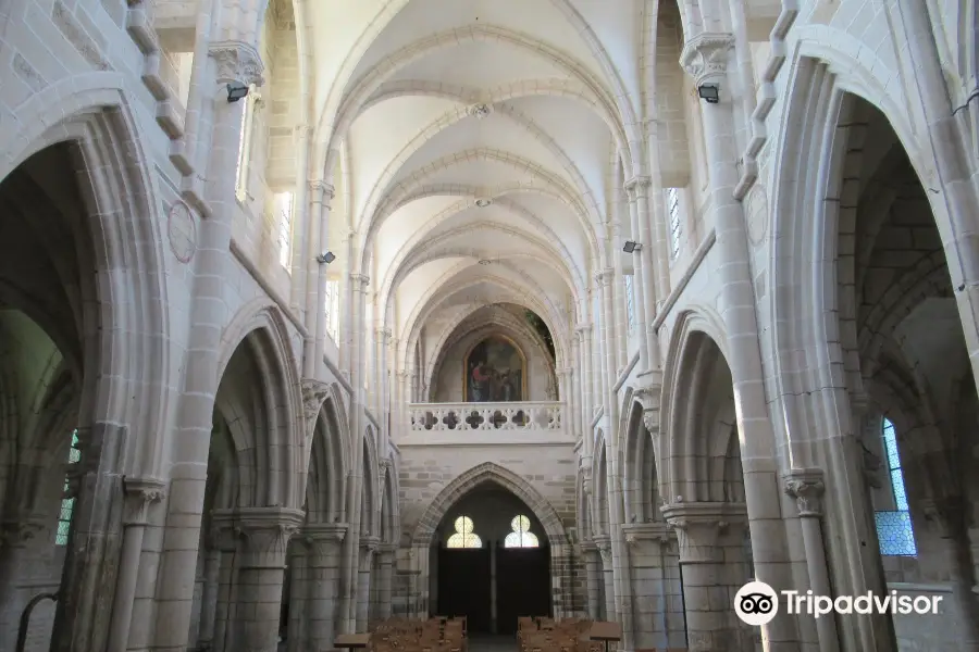
[[[690,652],[754,652],[733,607],[734,594],[747,579],[734,568],[735,560],[743,559],[744,505],[673,503],[662,514],[680,543]]]

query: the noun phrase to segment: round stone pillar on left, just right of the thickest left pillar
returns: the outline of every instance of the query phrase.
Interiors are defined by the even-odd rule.
[[[339,594],[343,584],[343,540],[346,524],[307,524],[302,536],[309,548],[309,649],[332,650],[339,631]]]

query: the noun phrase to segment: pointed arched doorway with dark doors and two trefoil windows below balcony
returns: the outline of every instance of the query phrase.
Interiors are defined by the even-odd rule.
[[[519,616],[549,616],[550,548],[526,503],[492,481],[463,496],[436,530],[433,606],[469,630],[516,634]]]

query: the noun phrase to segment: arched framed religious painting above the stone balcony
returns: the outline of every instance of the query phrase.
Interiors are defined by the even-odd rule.
[[[526,363],[523,353],[501,337],[487,337],[463,362],[467,403],[506,403],[526,400]]]

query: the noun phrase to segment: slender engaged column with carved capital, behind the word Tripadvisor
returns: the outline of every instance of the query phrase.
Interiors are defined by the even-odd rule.
[[[798,507],[803,546],[806,553],[806,569],[809,586],[816,595],[832,595],[829,566],[826,563],[826,546],[822,537],[822,494],[826,485],[820,469],[794,469],[785,475],[785,493],[795,499]],[[819,652],[839,652],[840,637],[837,632],[837,617],[830,612],[816,620],[819,637]]]

